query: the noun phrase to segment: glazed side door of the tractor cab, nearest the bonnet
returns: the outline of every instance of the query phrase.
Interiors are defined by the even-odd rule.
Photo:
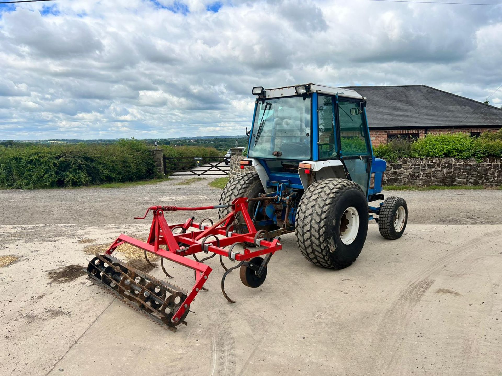
[[[371,143],[360,101],[338,98],[336,106],[338,154],[350,179],[358,183],[367,196],[371,172]]]

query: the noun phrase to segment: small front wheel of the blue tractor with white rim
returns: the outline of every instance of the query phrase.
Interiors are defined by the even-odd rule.
[[[389,240],[401,238],[408,223],[408,206],[400,197],[389,197],[380,207],[378,229]]]

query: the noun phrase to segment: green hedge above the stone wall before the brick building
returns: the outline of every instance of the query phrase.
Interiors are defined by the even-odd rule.
[[[376,146],[373,152],[376,157],[389,162],[407,157],[476,160],[489,156],[502,157],[502,129],[494,133],[485,132],[478,138],[458,132],[429,134],[411,143],[407,140],[393,140]]]

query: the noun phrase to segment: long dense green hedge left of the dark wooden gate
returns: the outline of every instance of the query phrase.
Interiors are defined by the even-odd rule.
[[[148,146],[123,139],[114,144],[0,146],[0,188],[49,188],[153,178]]]

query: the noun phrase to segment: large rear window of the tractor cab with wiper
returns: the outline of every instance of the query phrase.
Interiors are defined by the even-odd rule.
[[[249,157],[309,159],[310,106],[310,97],[258,101]]]

